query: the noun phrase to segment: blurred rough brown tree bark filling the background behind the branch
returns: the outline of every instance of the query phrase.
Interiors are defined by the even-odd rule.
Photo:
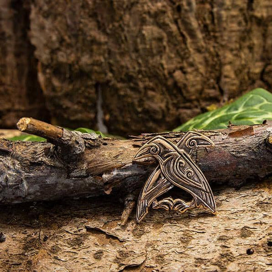
[[[1,56],[4,70],[21,71],[14,65],[21,60],[34,82],[38,74],[52,121],[62,126],[97,128],[102,103],[100,121],[110,133],[170,130],[210,104],[254,87],[271,90],[269,0],[6,0],[0,12],[1,48],[14,56]],[[16,58],[10,41],[24,45],[23,56]],[[23,73],[18,77],[28,93],[39,92]],[[11,110],[3,104],[1,111]],[[12,113],[3,114],[0,126],[12,126],[6,115]]]

